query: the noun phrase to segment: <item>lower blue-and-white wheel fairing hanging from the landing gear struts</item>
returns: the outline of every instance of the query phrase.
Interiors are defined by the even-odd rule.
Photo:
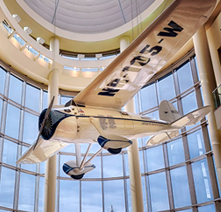
[[[87,172],[93,170],[94,168],[94,164],[88,163],[86,166],[80,169],[75,160],[70,160],[63,165],[63,171],[75,180],[80,180]]]

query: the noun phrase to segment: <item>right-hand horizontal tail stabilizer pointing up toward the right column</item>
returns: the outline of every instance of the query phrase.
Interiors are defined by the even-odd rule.
[[[172,127],[185,127],[196,124],[211,111],[210,106],[196,109],[171,123]]]

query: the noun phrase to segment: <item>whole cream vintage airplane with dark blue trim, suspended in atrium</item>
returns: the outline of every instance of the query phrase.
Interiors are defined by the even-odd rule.
[[[39,117],[39,136],[18,163],[40,163],[70,143],[76,145],[76,161],[63,165],[73,179],[81,179],[95,166],[90,161],[102,149],[118,154],[132,139],[154,135],[147,145],[174,138],[184,126],[210,112],[205,106],[183,117],[168,101],[159,106],[161,120],[121,111],[121,108],[194,35],[212,13],[216,0],[175,0],[97,78],[64,106],[54,106]],[[81,161],[80,144],[89,143]],[[88,161],[92,143],[100,150]]]

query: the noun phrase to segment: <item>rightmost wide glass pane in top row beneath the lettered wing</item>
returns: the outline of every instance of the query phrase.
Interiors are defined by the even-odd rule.
[[[193,77],[189,62],[177,70],[177,76],[180,85],[180,93],[183,93],[193,86]]]

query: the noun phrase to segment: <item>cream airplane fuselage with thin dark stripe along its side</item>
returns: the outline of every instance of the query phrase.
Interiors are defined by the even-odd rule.
[[[58,113],[66,117],[57,125],[53,138],[68,143],[97,142],[100,135],[117,135],[131,140],[177,130],[165,121],[114,109],[70,106]]]

